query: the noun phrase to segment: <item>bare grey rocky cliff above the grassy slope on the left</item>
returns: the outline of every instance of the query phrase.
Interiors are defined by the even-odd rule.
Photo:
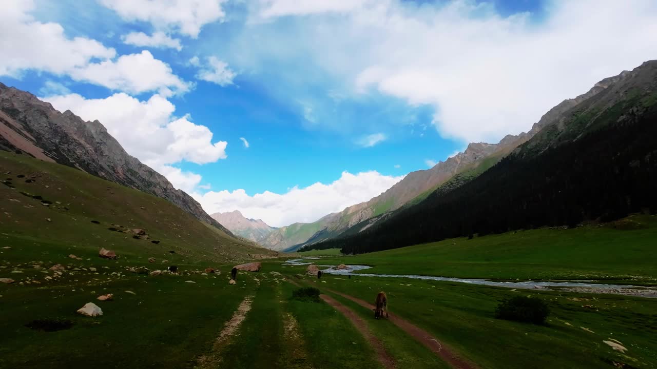
[[[125,152],[99,121],[61,113],[34,95],[0,83],[0,149],[20,150],[41,160],[165,198],[194,217],[221,228],[187,193]]]

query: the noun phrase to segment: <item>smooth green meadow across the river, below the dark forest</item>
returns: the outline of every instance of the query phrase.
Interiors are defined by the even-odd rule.
[[[323,259],[324,264],[371,265],[378,274],[459,278],[657,280],[657,217],[634,215],[608,225],[535,229],[454,238]]]

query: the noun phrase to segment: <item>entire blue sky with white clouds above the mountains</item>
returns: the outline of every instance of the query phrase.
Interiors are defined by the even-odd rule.
[[[528,131],[656,37],[654,0],[6,0],[0,82],[282,227]]]

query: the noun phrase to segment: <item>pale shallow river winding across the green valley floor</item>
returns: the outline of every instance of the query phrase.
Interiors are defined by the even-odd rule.
[[[286,265],[309,265],[313,263],[313,260],[321,259],[319,257],[305,257],[302,259],[292,259],[286,261]],[[415,274],[371,274],[371,273],[355,273],[357,271],[363,271],[365,269],[370,269],[371,267],[367,265],[347,265],[347,269],[332,269],[335,265],[317,265],[317,267],[323,267],[321,269],[323,273],[327,274],[338,274],[338,275],[350,275],[354,276],[363,276],[363,277],[396,277],[396,278],[411,278],[411,279],[422,279],[422,280],[443,280],[447,282],[461,282],[468,284],[480,284],[482,286],[497,286],[505,288],[547,288],[547,289],[558,289],[558,288],[568,288],[568,290],[576,292],[595,292],[595,293],[616,293],[622,295],[638,295],[644,297],[657,297],[657,290],[652,288],[643,288],[637,286],[628,286],[622,284],[601,284],[601,283],[590,283],[585,281],[522,281],[522,282],[499,282],[494,280],[486,279],[476,279],[476,278],[449,278],[449,277],[439,277],[439,276],[420,276]]]

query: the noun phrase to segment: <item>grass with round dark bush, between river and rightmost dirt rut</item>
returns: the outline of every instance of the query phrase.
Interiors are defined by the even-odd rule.
[[[613,362],[635,368],[657,366],[657,314],[654,313],[657,299],[512,291],[398,278],[346,279],[328,275],[322,278],[326,283],[313,278],[306,280],[365,301],[373,301],[376,292],[385,291],[392,313],[424,328],[481,368],[613,368]],[[551,309],[547,324],[537,326],[496,319],[497,305],[516,295],[545,301]],[[348,304],[344,299],[340,301]],[[371,319],[368,309],[355,304],[350,307],[360,309],[364,317]],[[380,330],[385,329],[384,324],[385,320],[381,320],[371,325]],[[621,341],[627,353],[622,355],[602,342],[610,338]],[[401,349],[407,350],[405,343],[409,342],[399,339]],[[394,346],[394,342],[390,345]]]

